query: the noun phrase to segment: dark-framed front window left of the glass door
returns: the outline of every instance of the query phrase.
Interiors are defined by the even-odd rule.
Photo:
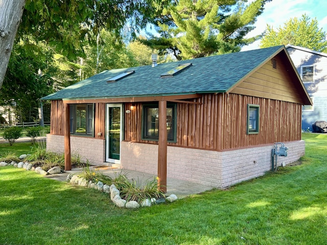
[[[93,104],[70,105],[71,134],[92,135],[94,128]]]

